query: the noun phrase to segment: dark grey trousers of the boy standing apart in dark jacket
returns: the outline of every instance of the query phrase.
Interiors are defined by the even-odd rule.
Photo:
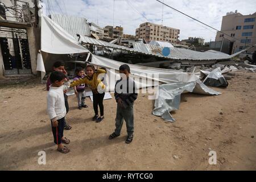
[[[133,105],[123,108],[117,104],[117,115],[115,117],[115,134],[120,135],[123,119],[125,119],[127,134],[129,137],[134,132],[134,116],[133,116]]]

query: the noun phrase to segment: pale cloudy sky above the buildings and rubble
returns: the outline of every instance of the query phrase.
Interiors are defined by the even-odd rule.
[[[160,0],[163,2],[163,0]],[[135,35],[143,22],[162,24],[162,4],[155,0],[43,0],[47,14],[82,16],[105,27],[122,26],[125,34]],[[238,10],[243,15],[256,12],[255,0],[164,0],[164,3],[220,30],[222,16]],[[114,13],[114,18],[113,18]],[[180,40],[189,36],[215,40],[216,31],[163,7],[163,25],[180,29]]]

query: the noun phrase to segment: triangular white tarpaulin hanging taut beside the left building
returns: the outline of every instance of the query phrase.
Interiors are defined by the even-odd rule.
[[[55,54],[89,52],[47,16],[42,16],[41,19],[41,51]]]

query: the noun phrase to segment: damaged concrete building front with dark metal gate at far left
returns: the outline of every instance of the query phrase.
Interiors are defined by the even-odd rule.
[[[36,1],[0,2],[0,77],[37,74]]]

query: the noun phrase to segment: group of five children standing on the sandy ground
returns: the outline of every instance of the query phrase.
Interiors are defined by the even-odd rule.
[[[51,119],[52,133],[54,143],[57,144],[57,151],[67,154],[70,150],[63,144],[69,144],[70,140],[63,136],[64,129],[71,129],[71,126],[65,121],[65,115],[68,113],[68,100],[65,94],[70,87],[74,87],[77,96],[79,109],[88,107],[85,105],[85,84],[92,90],[93,93],[93,121],[101,122],[104,119],[103,100],[105,96],[106,85],[99,77],[100,74],[106,73],[104,68],[95,69],[94,65],[87,65],[86,74],[84,69],[76,68],[76,77],[71,84],[69,83],[67,72],[64,69],[64,63],[57,61],[53,64],[53,72],[47,80],[47,112]],[[126,122],[127,139],[126,143],[133,141],[134,133],[134,115],[133,104],[137,99],[135,82],[129,77],[129,65],[123,64],[119,67],[121,79],[115,84],[115,100],[117,102],[117,113],[115,117],[115,130],[110,134],[109,139],[114,139],[120,135],[123,119]],[[133,86],[133,91],[130,91]],[[125,90],[125,92],[123,92]],[[98,115],[98,106],[100,107],[100,115]]]

